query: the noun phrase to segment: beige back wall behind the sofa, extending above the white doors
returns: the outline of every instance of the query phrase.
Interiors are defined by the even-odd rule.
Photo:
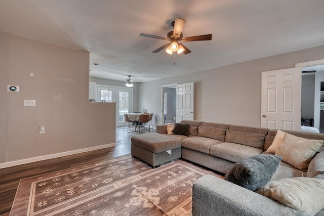
[[[195,120],[260,126],[261,72],[318,59],[324,46],[143,83],[139,107],[154,112],[160,124],[161,85],[193,81]]]

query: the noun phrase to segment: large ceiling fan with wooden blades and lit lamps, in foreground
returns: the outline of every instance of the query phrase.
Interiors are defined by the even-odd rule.
[[[181,19],[181,18],[175,18],[175,21],[173,21],[171,24],[174,30],[170,31],[167,34],[167,37],[155,36],[155,35],[144,34],[144,33],[140,33],[140,36],[170,41],[170,42],[168,42],[168,44],[165,44],[162,47],[159,47],[156,50],[152,51],[152,53],[158,53],[161,50],[167,48],[166,52],[169,53],[170,55],[172,55],[173,52],[177,52],[178,54],[184,53],[185,55],[188,53],[191,53],[191,51],[188,48],[186,48],[183,44],[181,44],[180,41],[186,42],[186,41],[211,40],[212,39],[212,34],[183,37],[182,30],[184,28],[185,23],[186,23],[186,20]]]

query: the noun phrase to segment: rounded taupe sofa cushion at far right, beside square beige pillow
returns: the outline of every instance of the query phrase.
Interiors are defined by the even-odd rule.
[[[308,178],[324,179],[324,152],[319,152],[310,161],[307,169]]]

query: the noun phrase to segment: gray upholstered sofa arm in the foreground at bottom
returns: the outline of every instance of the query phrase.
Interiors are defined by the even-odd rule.
[[[305,215],[265,196],[207,175],[192,186],[192,215]]]

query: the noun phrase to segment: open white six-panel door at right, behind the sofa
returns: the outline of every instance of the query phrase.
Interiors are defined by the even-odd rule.
[[[261,126],[300,131],[301,68],[262,72]]]

